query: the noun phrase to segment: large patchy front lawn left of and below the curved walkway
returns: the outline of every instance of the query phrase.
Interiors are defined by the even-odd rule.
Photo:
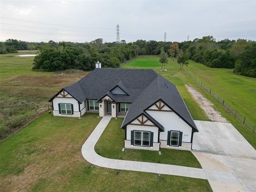
[[[44,114],[1,141],[1,191],[212,191],[203,179],[91,167],[81,148],[97,116]]]

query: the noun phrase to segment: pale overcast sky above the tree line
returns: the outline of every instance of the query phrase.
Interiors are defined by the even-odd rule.
[[[256,40],[255,1],[2,1],[0,41]]]

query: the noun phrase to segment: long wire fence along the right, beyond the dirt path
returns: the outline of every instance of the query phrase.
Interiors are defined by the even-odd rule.
[[[239,122],[241,122],[244,126],[248,127],[252,133],[256,134],[255,130],[255,122],[253,122],[251,119],[247,118],[245,115],[240,113],[238,110],[232,108],[225,99],[222,99],[216,92],[214,92],[210,87],[207,87],[201,80],[196,78],[196,76],[192,75],[187,69],[182,69],[187,73],[191,78],[194,79],[194,81],[201,85],[204,90],[206,90],[207,93],[209,93],[215,100],[217,100],[219,103],[221,103],[222,107],[231,115],[233,115]]]

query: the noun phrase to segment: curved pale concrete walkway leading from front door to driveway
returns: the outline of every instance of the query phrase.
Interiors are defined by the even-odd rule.
[[[108,116],[103,117],[82,147],[83,157],[91,164],[116,170],[141,171],[157,174],[178,175],[197,179],[208,179],[210,184],[211,182],[230,182],[234,184],[236,183],[237,185],[240,184],[232,173],[226,171],[198,169],[194,167],[161,163],[126,161],[102,157],[95,152],[94,146],[108,125],[110,119],[111,117]]]

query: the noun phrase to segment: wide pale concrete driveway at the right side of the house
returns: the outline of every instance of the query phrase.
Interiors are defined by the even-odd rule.
[[[195,123],[199,132],[194,134],[192,148],[202,167],[230,171],[241,182],[245,191],[256,191],[256,151],[250,143],[230,123]],[[220,185],[226,185],[230,189],[234,187],[222,181],[211,184],[217,189]]]

